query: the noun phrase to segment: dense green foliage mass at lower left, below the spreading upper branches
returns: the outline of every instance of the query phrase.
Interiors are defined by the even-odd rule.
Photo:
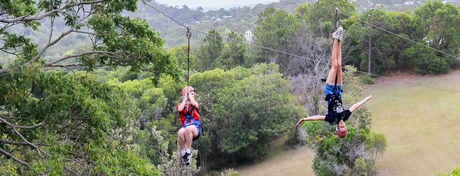
[[[30,163],[21,163],[24,167],[13,163],[17,174],[62,175],[74,170],[78,174],[159,175],[155,166],[138,157],[138,147],[127,145],[127,138],[121,137],[132,123],[121,113],[122,91],[85,72],[42,72],[35,67],[17,68],[0,79],[9,83],[0,85],[5,97],[0,101],[0,119],[2,138],[10,141],[0,143],[0,148],[10,158],[16,155]],[[9,128],[17,131],[11,133]],[[33,142],[31,148],[14,151],[11,141],[21,140]]]

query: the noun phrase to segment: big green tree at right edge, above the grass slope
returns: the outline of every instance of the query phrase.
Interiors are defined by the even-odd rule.
[[[414,11],[410,23],[411,31],[413,32],[410,37],[417,42],[455,56],[460,51],[460,30],[456,29],[460,23],[459,16],[460,10],[457,6],[437,1],[427,2]],[[419,50],[416,47],[419,46],[415,46],[415,50]],[[431,74],[447,73],[450,68],[457,68],[459,66],[457,58],[446,56],[441,52],[435,51],[433,54],[436,57],[431,57],[430,53],[426,53],[425,55],[423,53],[418,54],[422,58],[417,59],[426,61],[422,64],[430,63],[433,66],[429,71]],[[415,61],[416,64],[420,62]],[[445,67],[446,65],[448,68]],[[419,67],[420,71],[422,71],[419,73],[426,74],[426,72],[423,72],[426,67]]]

